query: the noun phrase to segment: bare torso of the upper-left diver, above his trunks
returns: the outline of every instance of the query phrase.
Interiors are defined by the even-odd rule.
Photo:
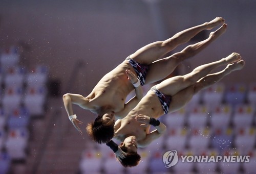
[[[105,74],[86,97],[89,100],[87,109],[98,114],[98,110],[102,107],[110,107],[114,112],[121,111],[124,108],[127,95],[134,89],[125,74],[126,69],[130,69],[135,73],[129,62],[124,61]]]

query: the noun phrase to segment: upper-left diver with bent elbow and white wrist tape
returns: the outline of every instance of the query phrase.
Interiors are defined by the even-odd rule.
[[[72,104],[75,104],[98,115],[95,121],[87,126],[89,134],[102,135],[102,133],[113,133],[115,119],[112,118],[119,119],[126,116],[143,97],[140,85],[164,79],[182,61],[199,53],[223,33],[218,32],[218,30],[222,31],[223,28],[226,28],[224,21],[223,18],[216,17],[209,22],[181,31],[167,40],[153,42],[138,49],[138,51],[126,58],[116,68],[105,74],[87,97],[70,93],[63,95],[63,103],[73,126],[82,134],[79,128],[79,124],[81,125],[82,122],[77,119],[72,109]],[[159,59],[178,45],[188,42],[199,32],[211,30],[220,24],[223,25],[214,32],[216,34],[211,33],[210,37],[203,44],[200,44],[198,48],[197,46],[193,48],[186,47],[182,52]],[[127,95],[134,89],[136,95],[125,103]],[[113,136],[113,134],[109,136]],[[102,137],[98,143],[108,141],[110,139]]]

